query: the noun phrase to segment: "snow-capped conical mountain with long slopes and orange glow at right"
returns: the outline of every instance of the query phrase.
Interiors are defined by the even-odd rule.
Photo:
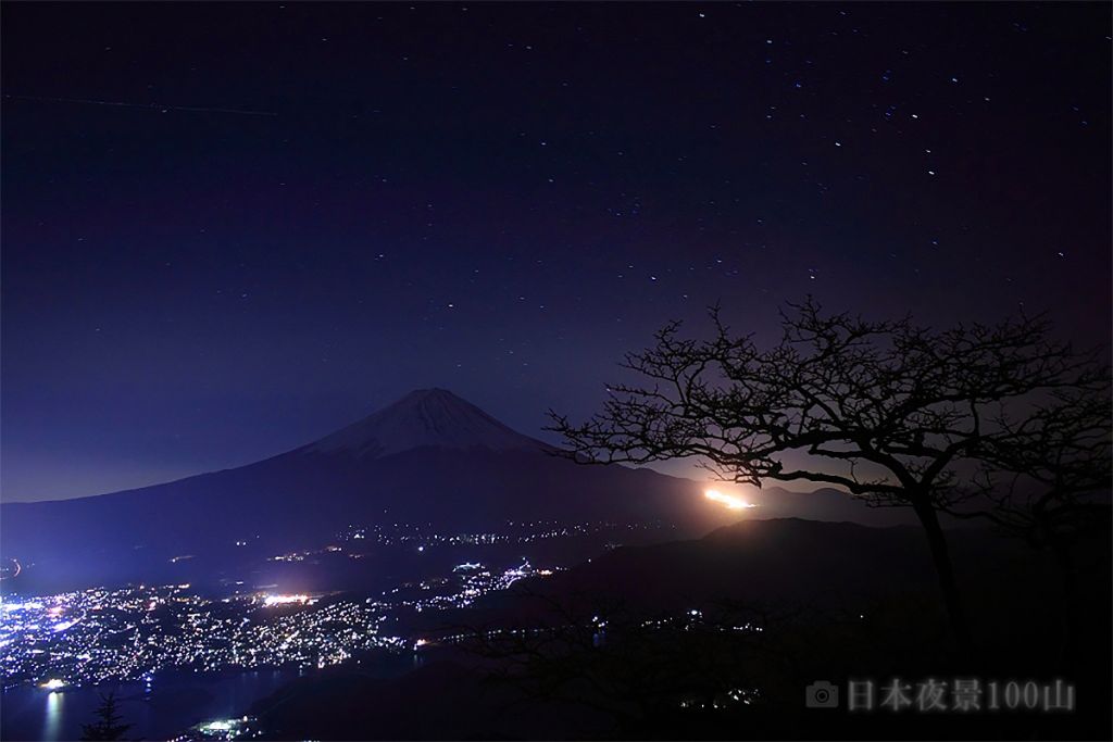
[[[765,491],[761,516],[878,521],[834,491]],[[238,468],[77,499],[0,506],[0,556],[21,590],[214,578],[248,556],[319,548],[352,528],[441,534],[508,522],[661,522],[699,535],[739,513],[700,483],[585,466],[444,389],[413,392],[319,441]],[[881,518],[884,522],[885,518]]]

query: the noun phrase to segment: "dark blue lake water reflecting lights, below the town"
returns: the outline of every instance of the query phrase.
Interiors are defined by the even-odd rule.
[[[0,696],[0,738],[78,740],[81,725],[95,720],[100,694],[116,691],[128,739],[165,740],[209,719],[240,716],[260,698],[297,677],[296,671],[264,670],[235,674],[170,673],[146,683],[105,683],[48,692],[33,685]]]

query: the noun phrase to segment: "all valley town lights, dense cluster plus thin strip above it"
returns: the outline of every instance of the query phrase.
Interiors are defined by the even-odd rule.
[[[326,556],[359,558],[391,547],[436,555],[447,548],[479,551],[604,534],[622,542],[634,533],[666,530],[660,523],[531,521],[508,523],[500,531],[445,534],[414,524],[352,525],[336,534],[338,542],[266,558],[289,563]],[[277,584],[266,584],[244,587],[245,592],[237,587],[217,597],[186,582],[53,595],[9,593],[0,597],[2,686],[33,684],[65,693],[71,687],[141,679],[149,690],[157,673],[175,669],[319,670],[359,662],[371,652],[402,652],[420,642],[433,642],[423,637],[415,643],[398,626],[398,616],[463,609],[520,580],[550,577],[562,568],[535,566],[524,556],[511,563],[496,558],[495,564],[475,558],[477,553],[471,556],[445,567],[443,574],[401,582],[371,596],[287,593],[275,590]]]

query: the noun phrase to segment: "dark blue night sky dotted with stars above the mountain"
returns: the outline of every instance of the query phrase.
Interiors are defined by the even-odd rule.
[[[2,496],[441,386],[545,437],[721,301],[1105,343],[1107,3],[4,3]]]

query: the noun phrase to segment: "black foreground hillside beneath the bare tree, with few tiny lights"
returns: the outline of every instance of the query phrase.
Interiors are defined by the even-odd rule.
[[[422,625],[414,636],[432,642],[403,677],[338,669],[254,712],[273,739],[1109,739],[1107,538],[1077,554],[1086,596],[1064,653],[1061,584],[1042,555],[953,533],[976,656],[951,650],[922,541],[775,520],[619,548]],[[809,683],[845,692],[848,677],[1058,679],[1076,708],[806,708]]]

